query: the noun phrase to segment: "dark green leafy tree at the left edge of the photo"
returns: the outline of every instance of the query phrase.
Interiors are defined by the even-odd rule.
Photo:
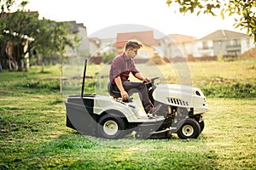
[[[32,51],[42,55],[44,62],[51,56],[61,57],[66,45],[73,47],[73,40],[67,38],[70,26],[52,20],[38,20],[37,12],[25,10],[26,4],[26,1],[17,4],[17,0],[0,0],[1,54],[4,55],[11,44],[20,53],[8,60],[10,62],[13,58],[19,70],[23,69],[25,55],[32,54]]]

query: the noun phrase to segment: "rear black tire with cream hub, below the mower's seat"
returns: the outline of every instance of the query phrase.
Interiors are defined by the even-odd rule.
[[[125,122],[111,114],[102,116],[98,121],[97,133],[106,139],[120,139],[125,135]]]

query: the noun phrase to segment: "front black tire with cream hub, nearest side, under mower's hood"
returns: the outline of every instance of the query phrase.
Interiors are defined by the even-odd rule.
[[[180,139],[197,139],[201,133],[201,127],[195,119],[188,118],[177,130],[177,136]]]

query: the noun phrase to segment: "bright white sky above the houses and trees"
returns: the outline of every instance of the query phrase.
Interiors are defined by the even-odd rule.
[[[235,29],[233,17],[222,20],[211,14],[179,14],[166,0],[29,0],[31,11],[56,21],[75,20],[87,28],[88,37],[116,37],[118,32],[158,32],[154,37],[183,34],[205,37],[213,31]]]

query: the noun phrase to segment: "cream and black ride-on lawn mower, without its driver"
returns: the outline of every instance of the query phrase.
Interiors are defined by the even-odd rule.
[[[87,59],[81,95],[70,95],[65,102],[67,127],[107,139],[120,139],[132,132],[136,139],[170,138],[172,133],[180,139],[196,139],[204,129],[202,115],[207,111],[207,101],[199,88],[155,85],[159,77],[152,78],[146,84],[150,99],[162,107],[157,116],[148,117],[134,99],[122,100],[118,89],[108,87],[109,96],[84,94],[86,65]]]

